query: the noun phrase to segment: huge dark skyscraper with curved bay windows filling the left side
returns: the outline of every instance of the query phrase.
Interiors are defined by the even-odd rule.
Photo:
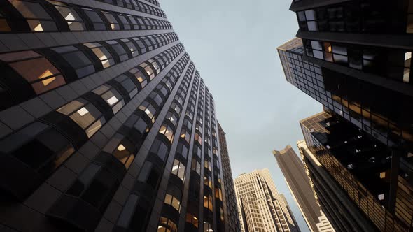
[[[229,231],[214,99],[158,5],[0,1],[0,231]]]

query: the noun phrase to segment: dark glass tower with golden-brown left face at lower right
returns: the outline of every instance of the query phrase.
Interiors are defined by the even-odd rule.
[[[392,173],[392,150],[331,111],[300,124],[309,151],[377,229],[411,231],[406,222],[411,217],[412,187],[400,174]],[[399,180],[395,196],[393,175]],[[389,206],[393,201],[394,213]]]

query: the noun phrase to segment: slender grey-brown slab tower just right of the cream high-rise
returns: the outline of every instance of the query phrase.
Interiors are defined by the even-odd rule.
[[[314,197],[304,165],[293,147],[288,145],[283,150],[274,150],[272,153],[310,231],[334,231]]]

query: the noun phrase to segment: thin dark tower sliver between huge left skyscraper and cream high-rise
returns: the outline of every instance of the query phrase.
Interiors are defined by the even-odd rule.
[[[234,180],[232,179],[232,171],[230,164],[230,154],[228,154],[227,139],[225,138],[225,132],[221,127],[221,124],[218,122],[218,137],[219,145],[221,147],[221,161],[223,166],[223,178],[224,189],[226,194],[227,201],[227,216],[228,221],[227,225],[229,230],[232,232],[241,231],[241,225],[239,224],[238,216],[238,206],[237,206],[237,197],[235,196]]]

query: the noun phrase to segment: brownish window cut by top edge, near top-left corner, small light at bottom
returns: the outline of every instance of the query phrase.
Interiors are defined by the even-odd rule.
[[[39,3],[8,0],[26,18],[31,31],[57,31],[52,17]]]

